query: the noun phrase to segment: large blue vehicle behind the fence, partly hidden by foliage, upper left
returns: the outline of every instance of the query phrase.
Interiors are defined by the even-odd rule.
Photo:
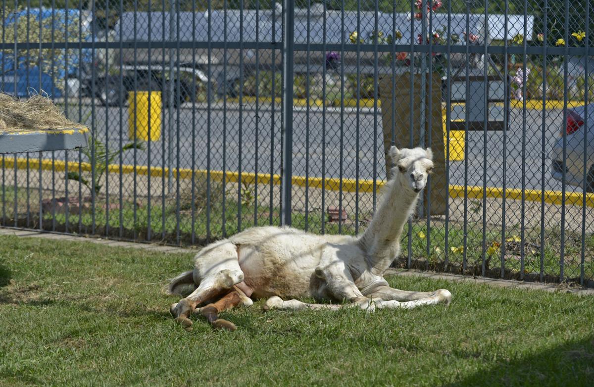
[[[4,21],[5,30],[14,28],[15,21],[17,23],[26,23],[27,17],[36,21],[42,20],[44,23],[48,23],[49,26],[53,23],[55,30],[62,34],[65,28],[69,26],[71,31],[74,30],[77,33],[80,31],[82,36],[77,36],[74,39],[76,42],[70,43],[68,53],[65,49],[59,50],[62,55],[53,56],[51,59],[53,62],[46,60],[46,65],[42,66],[41,69],[38,64],[34,64],[27,57],[27,53],[29,53],[29,56],[39,55],[37,51],[39,50],[39,43],[37,42],[31,42],[29,49],[19,49],[17,51],[18,58],[16,59],[13,50],[0,50],[1,91],[17,97],[29,97],[31,94],[42,93],[43,91],[52,98],[64,97],[64,94],[68,92],[69,96],[97,97],[104,104],[121,103],[121,97],[118,98],[117,95],[109,96],[108,93],[105,93],[105,85],[109,84],[110,80],[105,77],[106,64],[102,63],[99,46],[95,50],[94,57],[88,45],[83,48],[77,47],[80,40],[91,42],[93,15],[90,12],[80,11],[79,9],[24,9],[8,15]],[[48,24],[43,24],[43,27],[47,28]],[[63,42],[57,42],[56,44],[64,45]],[[17,64],[16,69],[15,64]],[[93,66],[95,67],[94,71]],[[94,90],[96,90],[94,96],[91,93],[93,75],[95,79]],[[102,93],[102,91],[104,92]],[[118,92],[118,90],[115,91],[116,94]]]

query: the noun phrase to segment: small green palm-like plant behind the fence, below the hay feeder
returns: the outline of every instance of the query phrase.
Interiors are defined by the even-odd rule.
[[[102,185],[100,184],[101,179],[105,172],[108,170],[109,164],[113,163],[116,157],[119,154],[123,154],[132,149],[139,149],[144,150],[144,145],[140,142],[128,142],[121,148],[115,151],[110,151],[103,142],[93,138],[91,140],[91,146],[87,148],[83,148],[83,154],[87,157],[89,163],[93,162],[93,154],[91,154],[91,150],[94,148],[94,179],[93,181],[89,181],[84,176],[79,175],[77,172],[68,172],[67,179],[69,180],[76,180],[77,182],[83,183],[83,185],[87,186],[90,190],[94,190],[95,195],[99,194],[101,191]]]

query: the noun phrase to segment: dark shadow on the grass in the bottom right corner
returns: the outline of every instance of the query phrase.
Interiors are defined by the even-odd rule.
[[[467,356],[480,357],[481,354],[469,352]],[[448,386],[591,386],[594,380],[594,335],[521,359],[488,361],[494,363],[491,369]]]

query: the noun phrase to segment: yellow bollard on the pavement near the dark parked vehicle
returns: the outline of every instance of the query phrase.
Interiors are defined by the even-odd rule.
[[[149,141],[150,132],[150,140],[158,141],[161,138],[161,112],[160,91],[129,91],[128,137],[133,140],[136,132],[136,139]]]

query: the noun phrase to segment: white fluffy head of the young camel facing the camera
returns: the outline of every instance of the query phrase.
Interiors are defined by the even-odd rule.
[[[433,153],[431,148],[398,149],[391,147],[389,151],[392,163],[396,168],[393,176],[401,185],[418,193],[427,184],[427,177],[433,170]]]

